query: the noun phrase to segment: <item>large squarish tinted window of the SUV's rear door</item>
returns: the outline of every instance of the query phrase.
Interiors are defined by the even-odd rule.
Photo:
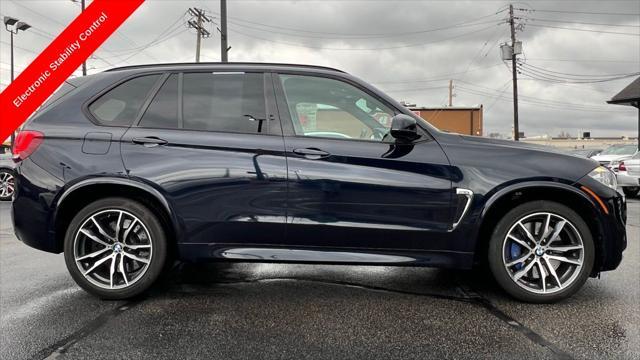
[[[262,74],[185,73],[185,129],[266,132]]]

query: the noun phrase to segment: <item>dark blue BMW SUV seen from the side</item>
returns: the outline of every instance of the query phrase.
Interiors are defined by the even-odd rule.
[[[14,149],[15,232],[122,299],[166,265],[258,261],[468,269],[556,301],[626,247],[615,175],[447,134],[342,71],[133,66],[71,79]]]

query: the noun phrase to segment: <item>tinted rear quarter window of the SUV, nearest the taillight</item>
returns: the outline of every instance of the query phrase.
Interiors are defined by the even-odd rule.
[[[142,103],[160,75],[131,79],[109,90],[89,106],[103,125],[128,126],[138,115]]]

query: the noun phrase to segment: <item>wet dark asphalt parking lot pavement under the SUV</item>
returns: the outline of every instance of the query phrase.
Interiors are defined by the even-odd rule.
[[[1,203],[0,358],[638,358],[637,200],[629,219],[620,268],[554,305],[477,272],[282,264],[178,264],[110,302],[17,241]]]

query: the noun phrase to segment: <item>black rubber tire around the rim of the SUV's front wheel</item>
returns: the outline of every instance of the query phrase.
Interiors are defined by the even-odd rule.
[[[520,219],[539,212],[556,214],[569,221],[578,231],[582,239],[584,251],[582,267],[576,270],[578,275],[573,282],[564,289],[548,294],[528,291],[519,286],[516,281],[512,279],[503,262],[503,244],[506,241],[509,230]],[[582,217],[567,206],[551,201],[533,201],[519,205],[509,211],[496,225],[488,249],[489,267],[498,284],[514,298],[530,303],[553,303],[573,295],[589,278],[593,268],[594,258],[595,249],[593,236]]]

